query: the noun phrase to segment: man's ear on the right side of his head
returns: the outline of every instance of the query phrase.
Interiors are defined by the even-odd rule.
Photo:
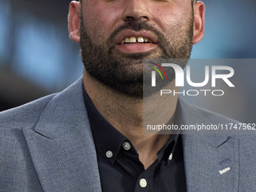
[[[203,2],[194,2],[193,44],[197,44],[203,38],[205,32],[205,10]]]

